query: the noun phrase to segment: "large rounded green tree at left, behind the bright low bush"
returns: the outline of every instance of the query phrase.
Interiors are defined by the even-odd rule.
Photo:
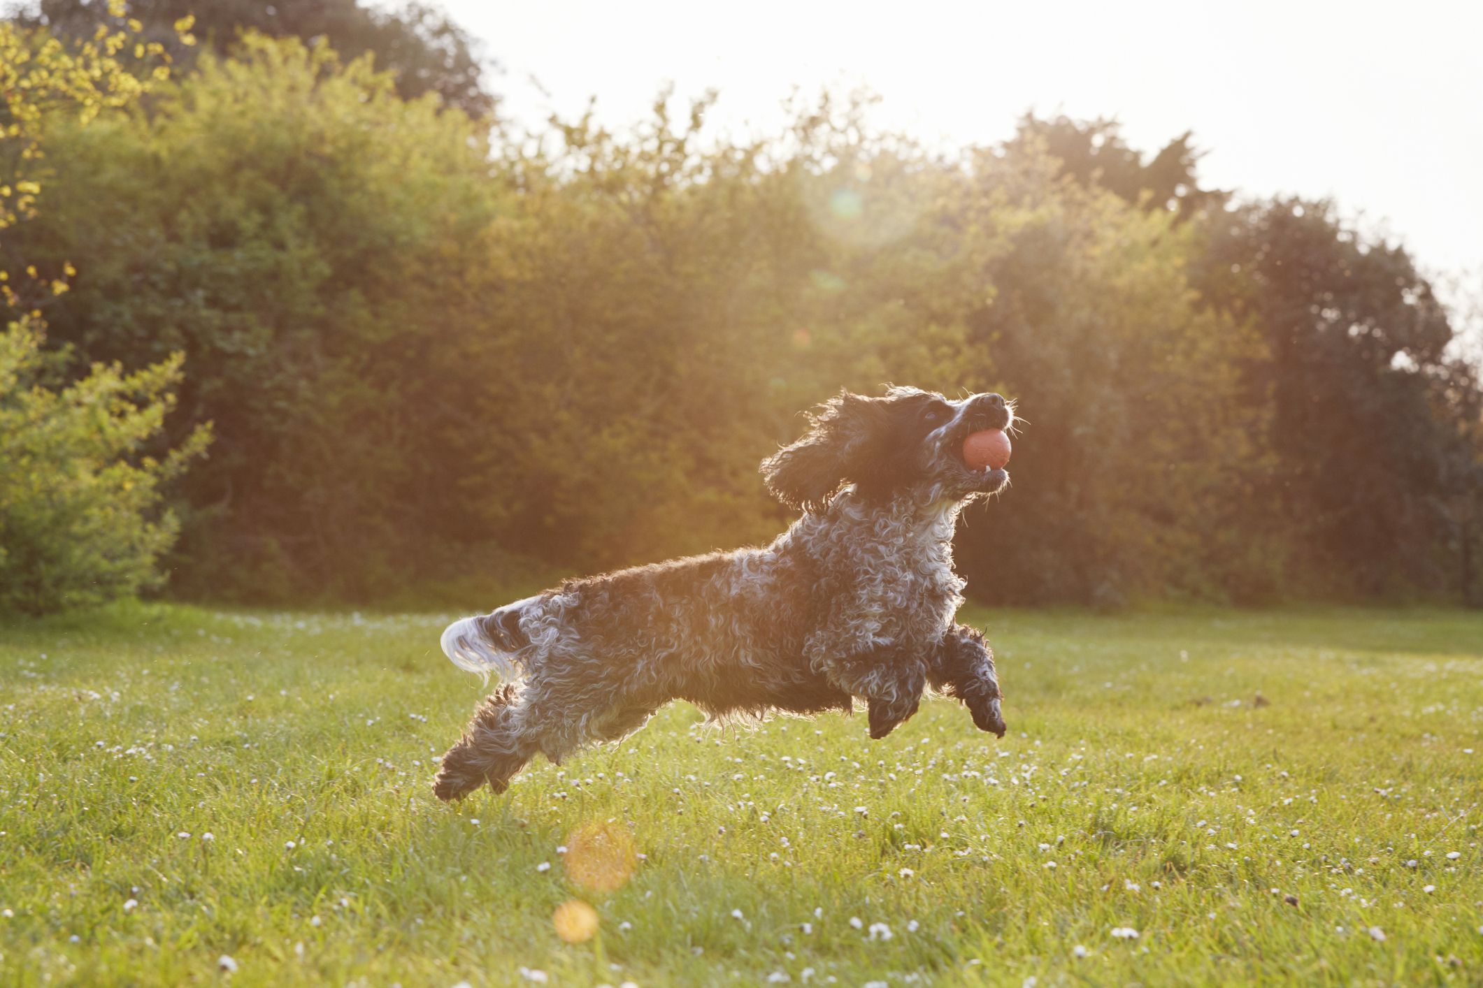
[[[403,101],[369,58],[249,34],[147,114],[53,144],[67,194],[24,243],[80,271],[49,310],[53,339],[129,366],[184,353],[166,440],[215,424],[182,481],[182,587],[386,590],[467,520],[451,465],[479,437],[446,410],[473,404],[501,271],[478,124]]]

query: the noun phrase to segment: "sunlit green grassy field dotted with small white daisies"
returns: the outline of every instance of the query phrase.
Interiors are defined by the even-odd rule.
[[[1483,984],[1483,615],[964,616],[1004,741],[672,707],[452,809],[446,615],[0,625],[0,984]]]

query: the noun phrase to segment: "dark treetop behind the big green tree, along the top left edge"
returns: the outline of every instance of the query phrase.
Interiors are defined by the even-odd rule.
[[[36,0],[22,21],[49,27],[58,37],[86,36],[105,3]],[[415,99],[432,92],[472,117],[494,114],[494,96],[483,89],[486,61],[479,53],[478,41],[436,4],[372,7],[363,6],[362,0],[132,0],[129,13],[185,68],[194,64],[196,50],[175,37],[174,25],[190,18],[194,22],[193,36],[218,55],[236,52],[242,31],[323,43],[346,58],[369,52],[378,68],[396,74],[396,89],[403,98]]]

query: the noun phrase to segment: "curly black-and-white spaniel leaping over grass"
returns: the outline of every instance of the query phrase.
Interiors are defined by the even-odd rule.
[[[762,461],[768,490],[801,513],[771,545],[568,579],[448,625],[448,658],[501,684],[433,792],[503,792],[537,752],[559,763],[618,741],[675,699],[725,718],[848,712],[860,698],[884,738],[931,686],[1003,738],[994,655],[954,622],[952,533],[965,504],[1008,484],[964,462],[964,438],[1013,422],[998,394],[844,391]]]

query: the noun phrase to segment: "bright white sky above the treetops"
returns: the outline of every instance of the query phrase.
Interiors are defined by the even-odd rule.
[[[773,130],[780,102],[863,84],[875,120],[992,142],[1026,110],[1117,117],[1155,151],[1194,130],[1207,185],[1332,196],[1433,271],[1483,271],[1483,4],[442,0],[500,62],[518,123],[642,119],[655,92]]]

